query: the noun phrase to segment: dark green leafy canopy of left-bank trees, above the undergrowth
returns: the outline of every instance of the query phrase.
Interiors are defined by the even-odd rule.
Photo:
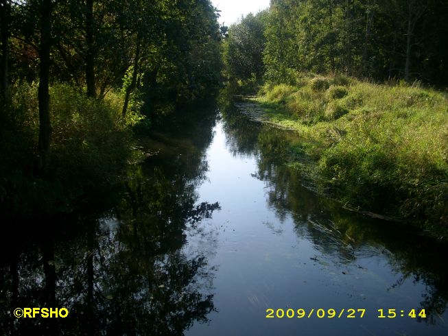
[[[38,81],[40,5],[24,1],[13,7],[10,81]],[[146,99],[151,104],[158,97],[191,101],[219,87],[222,36],[211,1],[113,0],[95,2],[92,13],[87,7],[86,1],[56,1],[52,7],[52,81],[85,90],[86,58],[93,56],[100,99],[120,88],[124,77],[129,86],[134,64],[137,88],[151,96]],[[91,27],[86,26],[88,14],[93,16]]]

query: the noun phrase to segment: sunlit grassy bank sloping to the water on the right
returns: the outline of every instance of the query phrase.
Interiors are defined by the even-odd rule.
[[[292,152],[316,160],[335,198],[447,237],[445,93],[418,84],[304,76],[294,85],[266,84],[257,101],[270,122],[307,140]]]

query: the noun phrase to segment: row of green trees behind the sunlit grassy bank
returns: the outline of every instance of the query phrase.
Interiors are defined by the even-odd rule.
[[[272,0],[229,29],[231,77],[292,82],[300,72],[446,85],[443,0]]]

